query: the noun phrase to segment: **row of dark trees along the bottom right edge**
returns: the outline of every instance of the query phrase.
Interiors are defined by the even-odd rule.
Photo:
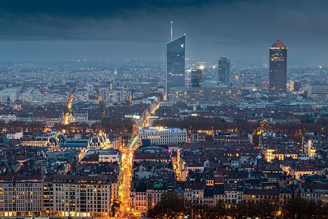
[[[281,219],[310,219],[328,218],[328,205],[322,203],[306,202],[297,198],[279,206],[277,202],[241,202],[239,204],[225,204],[218,202],[215,206],[190,205],[183,202],[174,193],[163,194],[161,201],[147,215],[151,218],[281,218]]]

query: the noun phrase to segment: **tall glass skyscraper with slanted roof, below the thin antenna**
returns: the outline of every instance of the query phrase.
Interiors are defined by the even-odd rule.
[[[185,39],[182,35],[166,44],[166,92],[185,87]]]

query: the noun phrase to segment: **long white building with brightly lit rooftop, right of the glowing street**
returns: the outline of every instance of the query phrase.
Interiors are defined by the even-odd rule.
[[[187,142],[187,129],[144,127],[139,129],[139,141],[149,139],[151,144],[168,145]]]

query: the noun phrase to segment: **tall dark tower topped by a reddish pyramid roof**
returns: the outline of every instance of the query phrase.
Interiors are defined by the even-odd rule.
[[[269,98],[287,91],[287,47],[278,38],[270,47]]]

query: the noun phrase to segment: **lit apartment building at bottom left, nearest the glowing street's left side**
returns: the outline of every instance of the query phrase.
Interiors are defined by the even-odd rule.
[[[106,217],[110,209],[108,175],[55,175],[53,193],[55,216]]]

